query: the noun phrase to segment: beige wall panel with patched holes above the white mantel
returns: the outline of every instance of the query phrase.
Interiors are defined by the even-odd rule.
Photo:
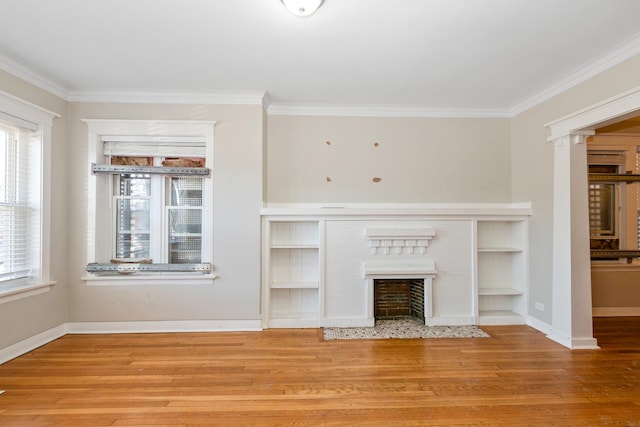
[[[511,198],[508,119],[269,116],[268,138],[269,202]]]

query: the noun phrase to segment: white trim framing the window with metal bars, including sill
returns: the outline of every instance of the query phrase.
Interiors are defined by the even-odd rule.
[[[96,204],[97,179],[91,173],[92,163],[102,161],[102,136],[204,136],[206,140],[206,164],[212,169],[213,175],[213,135],[215,121],[195,120],[111,120],[84,119],[88,127],[88,185],[87,185],[87,259],[86,263],[96,262]],[[203,197],[202,224],[202,262],[213,265],[213,180],[206,178]],[[162,283],[179,284],[211,284],[216,275],[193,273],[179,275],[154,275],[153,273],[123,276],[101,276],[87,273],[82,277],[88,285],[153,285]]]

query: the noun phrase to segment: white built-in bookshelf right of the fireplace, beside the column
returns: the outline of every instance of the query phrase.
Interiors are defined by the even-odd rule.
[[[527,221],[478,220],[478,324],[525,323]]]

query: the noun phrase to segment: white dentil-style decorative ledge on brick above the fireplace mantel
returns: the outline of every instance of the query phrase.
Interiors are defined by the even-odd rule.
[[[401,255],[406,252],[409,255],[416,251],[421,255],[427,253],[429,241],[436,235],[436,231],[429,228],[367,228],[365,236],[369,238],[371,253],[376,255],[378,251],[389,255],[391,250]]]

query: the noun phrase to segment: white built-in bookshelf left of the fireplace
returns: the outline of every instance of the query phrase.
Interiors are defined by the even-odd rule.
[[[265,219],[265,327],[319,326],[320,224],[317,220]]]

